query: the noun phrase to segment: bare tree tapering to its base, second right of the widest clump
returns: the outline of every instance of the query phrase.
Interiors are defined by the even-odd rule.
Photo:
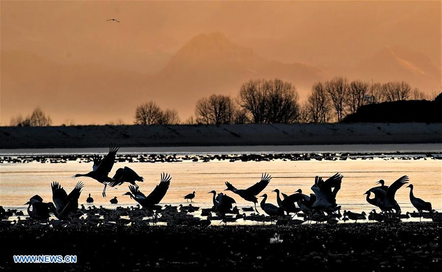
[[[340,122],[345,114],[345,98],[349,89],[348,80],[344,77],[334,77],[326,81],[325,89],[336,112],[337,121]]]

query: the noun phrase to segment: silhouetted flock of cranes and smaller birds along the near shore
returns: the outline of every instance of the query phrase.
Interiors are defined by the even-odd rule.
[[[212,202],[213,207],[202,209],[201,216],[207,216],[206,220],[201,220],[201,218],[196,218],[190,215],[190,213],[194,213],[199,210],[199,207],[192,206],[189,204],[188,206],[179,206],[174,207],[171,205],[166,205],[163,209],[163,206],[160,205],[161,200],[165,197],[167,190],[169,189],[171,176],[167,173],[161,174],[160,183],[154,188],[154,190],[148,194],[144,195],[140,190],[139,186],[136,183],[143,182],[143,177],[139,176],[134,170],[129,167],[119,168],[113,175],[113,177],[109,176],[113,164],[115,162],[116,153],[119,150],[115,144],[111,144],[109,148],[109,152],[106,156],[100,157],[98,155],[94,155],[93,157],[93,166],[92,171],[85,174],[75,174],[72,176],[73,178],[78,177],[90,177],[95,179],[96,181],[102,183],[104,185],[103,188],[103,197],[106,197],[106,187],[109,185],[111,187],[120,186],[124,183],[129,184],[129,192],[123,194],[123,196],[129,196],[131,199],[137,202],[138,208],[122,208],[118,207],[115,210],[112,209],[104,209],[100,206],[100,208],[96,208],[95,206],[89,207],[89,210],[86,210],[82,205],[82,208],[78,208],[78,199],[82,193],[82,189],[84,187],[83,182],[78,182],[74,189],[67,194],[66,191],[61,187],[58,182],[53,182],[51,184],[52,195],[54,202],[44,202],[43,199],[35,195],[29,199],[25,205],[28,205],[28,215],[31,220],[46,222],[49,223],[50,214],[54,214],[54,216],[61,222],[65,224],[69,223],[84,223],[80,219],[85,213],[87,216],[87,222],[92,220],[93,223],[97,222],[96,214],[105,216],[106,220],[101,223],[109,223],[110,220],[113,222],[122,222],[124,224],[134,223],[139,224],[143,221],[144,217],[151,217],[148,222],[158,222],[163,221],[167,223],[189,223],[193,222],[196,224],[210,224],[211,220],[221,220],[221,222],[234,222],[237,219],[244,220],[253,220],[253,221],[264,221],[264,222],[272,222],[276,220],[276,223],[304,223],[307,222],[327,222],[327,223],[337,223],[339,220],[348,221],[348,220],[366,220],[365,212],[362,213],[354,213],[351,211],[343,211],[341,214],[341,206],[336,202],[336,196],[341,189],[341,183],[343,179],[343,175],[336,173],[328,179],[324,180],[320,176],[315,177],[314,184],[311,186],[312,193],[309,195],[303,194],[302,189],[298,189],[294,194],[286,195],[281,193],[278,189],[273,190],[276,193],[276,202],[277,205],[272,203],[267,203],[268,196],[267,194],[263,194],[260,196],[260,207],[269,217],[263,217],[259,214],[256,204],[258,203],[257,196],[268,186],[271,176],[270,174],[263,173],[261,176],[261,180],[259,180],[254,185],[250,186],[247,189],[237,189],[230,182],[225,182],[226,189],[225,191],[230,191],[233,194],[243,198],[246,201],[249,201],[254,204],[254,208],[242,208],[243,212],[253,212],[251,215],[247,216],[245,213],[240,214],[239,209],[233,204],[236,203],[235,199],[227,196],[226,194],[219,193],[216,191],[210,191],[209,194],[213,194]],[[410,184],[410,201],[413,204],[414,208],[417,212],[406,214],[401,213],[401,208],[397,201],[395,200],[395,194],[398,189],[400,189],[404,184],[409,183],[408,176],[404,175],[394,181],[390,186],[385,185],[384,180],[380,180],[378,182],[379,186],[370,188],[367,190],[364,195],[366,195],[366,201],[371,205],[378,207],[381,212],[377,213],[376,210],[372,210],[368,215],[369,220],[375,220],[378,222],[396,222],[400,221],[401,218],[410,218],[410,217],[419,217],[422,218],[431,218],[433,221],[441,222],[442,216],[437,211],[432,209],[431,203],[422,200],[421,198],[414,197],[413,194],[413,185]],[[374,198],[370,198],[371,195],[374,195]],[[183,197],[188,202],[189,199],[193,202],[193,198],[195,198],[195,192],[188,194]],[[87,203],[93,203],[93,198],[91,198],[90,194],[88,198],[86,198]],[[118,203],[116,197],[110,200],[112,204]],[[141,207],[141,208],[140,208]],[[31,209],[32,208],[32,209]],[[256,214],[254,213],[256,212]],[[426,212],[426,213],[425,213]],[[9,216],[21,215],[23,216],[23,212],[21,211],[5,211],[0,206],[0,219],[7,220]],[[216,216],[213,216],[212,213],[215,213]],[[121,218],[121,216],[128,215],[131,219],[125,221]],[[293,219],[295,216],[303,218],[303,220]],[[25,224],[23,221],[18,218],[20,224]],[[51,221],[54,224],[54,220]],[[1,221],[2,226],[10,226],[11,224],[16,224],[17,221],[5,222]],[[59,223],[62,224],[62,223]]]

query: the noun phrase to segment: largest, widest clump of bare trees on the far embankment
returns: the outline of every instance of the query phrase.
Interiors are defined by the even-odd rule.
[[[295,86],[281,79],[250,80],[240,89],[240,105],[254,123],[293,123],[298,117]]]

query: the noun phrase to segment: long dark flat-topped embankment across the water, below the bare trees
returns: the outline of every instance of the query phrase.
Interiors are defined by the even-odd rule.
[[[0,149],[442,143],[442,123],[0,127]]]

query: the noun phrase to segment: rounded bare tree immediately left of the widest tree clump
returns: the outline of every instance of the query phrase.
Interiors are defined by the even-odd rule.
[[[199,99],[195,107],[196,122],[202,124],[231,124],[235,105],[228,96],[211,95]]]

